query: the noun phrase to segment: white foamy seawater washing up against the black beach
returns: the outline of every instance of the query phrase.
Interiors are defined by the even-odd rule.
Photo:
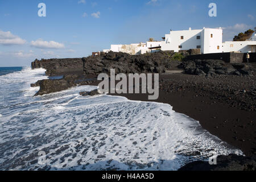
[[[0,76],[0,170],[177,170],[210,151],[242,155],[167,104],[79,95],[96,86],[33,97],[44,72]]]

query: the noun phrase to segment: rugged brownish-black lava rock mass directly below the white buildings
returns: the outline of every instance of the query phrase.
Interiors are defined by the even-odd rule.
[[[83,57],[84,73],[98,75],[99,73],[164,73],[172,68],[173,51],[159,51],[144,55],[129,55],[112,52],[100,56]]]

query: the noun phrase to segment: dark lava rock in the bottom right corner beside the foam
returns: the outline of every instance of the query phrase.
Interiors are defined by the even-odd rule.
[[[217,165],[210,165],[208,162],[196,161],[181,167],[179,171],[255,171],[255,157],[218,156]]]

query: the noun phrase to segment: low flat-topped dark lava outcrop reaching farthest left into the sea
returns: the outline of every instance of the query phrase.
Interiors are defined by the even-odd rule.
[[[83,71],[83,62],[81,58],[73,59],[36,59],[31,63],[31,68],[46,69],[47,76],[64,75],[65,73]]]

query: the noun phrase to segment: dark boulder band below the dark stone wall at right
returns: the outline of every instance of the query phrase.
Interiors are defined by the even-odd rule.
[[[191,75],[251,75],[254,68],[247,64],[226,64],[222,60],[184,61],[180,67]]]

